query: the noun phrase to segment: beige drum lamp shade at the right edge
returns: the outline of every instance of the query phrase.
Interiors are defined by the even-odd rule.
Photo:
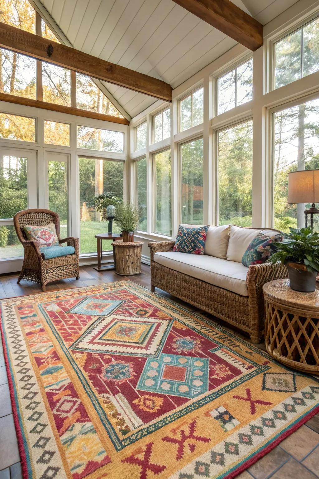
[[[319,170],[288,173],[288,203],[319,203]]]

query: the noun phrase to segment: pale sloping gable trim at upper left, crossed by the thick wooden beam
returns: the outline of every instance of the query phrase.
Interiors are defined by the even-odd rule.
[[[55,22],[52,15],[46,10],[44,5],[41,3],[40,0],[29,0],[29,3],[33,6],[34,10],[38,12],[44,22],[48,25],[51,31],[55,34],[56,38],[58,38],[59,42],[62,45],[71,46],[74,48],[74,45],[70,42],[70,40],[66,37],[66,35],[62,32],[59,25]],[[96,84],[96,86],[104,93],[104,95],[110,100],[111,103],[119,110],[119,112],[127,118],[127,120],[131,121],[132,117],[127,113],[126,110],[122,107],[122,105],[117,101],[117,99],[112,95],[109,89],[102,83],[100,80],[96,78],[91,78],[91,80]]]

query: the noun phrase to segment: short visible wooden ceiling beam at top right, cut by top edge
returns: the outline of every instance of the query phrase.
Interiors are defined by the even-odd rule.
[[[264,44],[263,25],[230,0],[173,0],[250,50]]]

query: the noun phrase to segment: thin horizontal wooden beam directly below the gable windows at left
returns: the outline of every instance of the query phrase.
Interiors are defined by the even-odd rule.
[[[86,118],[110,121],[112,123],[120,123],[121,125],[130,125],[129,120],[126,118],[118,118],[117,116],[105,115],[103,113],[80,110],[79,108],[73,108],[72,106],[56,105],[55,103],[42,102],[41,100],[32,100],[31,98],[23,98],[22,96],[10,95],[9,93],[0,93],[0,101],[33,106],[33,108],[43,108],[44,110],[66,113],[69,115],[85,116]]]

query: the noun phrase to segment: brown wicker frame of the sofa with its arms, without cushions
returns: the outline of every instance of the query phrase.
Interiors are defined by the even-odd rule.
[[[248,296],[241,296],[218,286],[163,266],[154,261],[154,254],[173,251],[174,241],[149,243],[151,251],[151,285],[192,304],[248,333],[254,344],[264,335],[263,285],[273,279],[286,278],[286,266],[256,264],[247,274]]]

